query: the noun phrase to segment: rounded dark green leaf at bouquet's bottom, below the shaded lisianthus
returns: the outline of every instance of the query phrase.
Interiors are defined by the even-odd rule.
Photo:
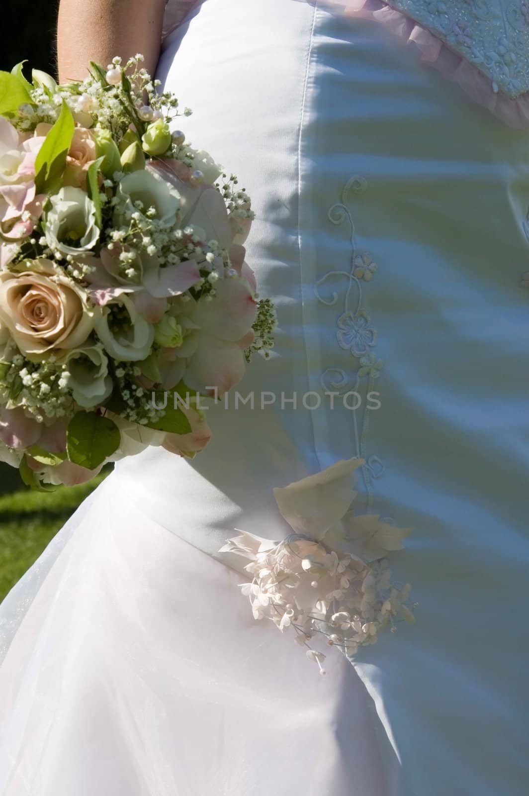
[[[119,428],[95,412],[77,412],[68,423],[66,450],[70,462],[95,470],[119,448]]]

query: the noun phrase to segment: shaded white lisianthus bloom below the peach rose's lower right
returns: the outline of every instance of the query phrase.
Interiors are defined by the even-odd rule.
[[[98,406],[110,396],[112,379],[108,375],[103,345],[96,343],[72,349],[60,362],[68,366],[68,389],[84,409]]]

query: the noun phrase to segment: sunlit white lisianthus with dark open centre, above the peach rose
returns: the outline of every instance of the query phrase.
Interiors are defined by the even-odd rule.
[[[46,242],[63,256],[85,255],[99,240],[95,224],[95,205],[80,188],[67,186],[50,197],[52,208],[46,213]]]

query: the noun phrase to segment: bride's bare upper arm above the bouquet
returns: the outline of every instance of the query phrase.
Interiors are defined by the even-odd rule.
[[[88,62],[103,67],[112,57],[145,56],[154,74],[160,53],[165,0],[60,0],[57,25],[59,78],[80,80]]]

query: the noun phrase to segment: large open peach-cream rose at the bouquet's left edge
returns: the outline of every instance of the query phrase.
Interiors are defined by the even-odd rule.
[[[0,326],[30,359],[82,345],[99,308],[50,260],[25,260],[22,267],[0,273]]]

